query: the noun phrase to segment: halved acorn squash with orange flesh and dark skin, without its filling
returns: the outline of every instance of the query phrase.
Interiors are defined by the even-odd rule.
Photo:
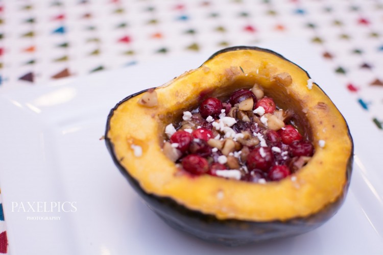
[[[278,79],[281,73],[291,75],[290,85]],[[345,119],[317,84],[309,88],[309,79],[306,71],[269,49],[226,48],[155,88],[155,106],[138,103],[145,91],[119,102],[107,119],[106,145],[148,206],[179,230],[232,246],[302,234],[338,211],[353,159]],[[266,184],[179,174],[161,149],[165,126],[206,97],[225,98],[255,83],[278,107],[295,112],[301,134],[314,144],[312,160],[294,178]]]

